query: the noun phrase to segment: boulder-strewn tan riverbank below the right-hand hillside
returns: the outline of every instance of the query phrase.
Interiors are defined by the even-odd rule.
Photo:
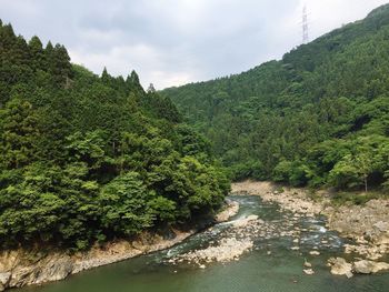
[[[353,241],[353,244],[345,244],[349,262],[342,258],[329,259],[333,274],[351,276],[352,273],[389,270],[389,264],[382,261],[389,253],[389,200],[336,208],[326,191],[318,193],[319,200],[312,200],[306,189],[252,181],[232,184],[232,193],[260,195],[266,202],[277,202],[282,210],[305,217],[326,215],[328,229]]]

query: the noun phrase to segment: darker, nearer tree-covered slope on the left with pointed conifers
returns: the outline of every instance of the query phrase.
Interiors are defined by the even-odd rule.
[[[0,245],[87,249],[211,214],[209,143],[136,72],[98,77],[0,21]]]

